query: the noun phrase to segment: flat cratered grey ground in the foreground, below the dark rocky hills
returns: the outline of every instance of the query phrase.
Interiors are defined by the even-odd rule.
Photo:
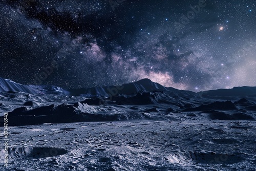
[[[2,127],[3,129],[3,127]],[[9,127],[0,170],[255,170],[251,121],[77,122]],[[3,131],[0,134],[4,144]],[[1,151],[1,162],[4,161]]]

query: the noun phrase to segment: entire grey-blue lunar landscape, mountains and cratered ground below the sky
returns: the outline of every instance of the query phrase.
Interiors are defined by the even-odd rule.
[[[255,95],[0,78],[0,170],[255,170]]]

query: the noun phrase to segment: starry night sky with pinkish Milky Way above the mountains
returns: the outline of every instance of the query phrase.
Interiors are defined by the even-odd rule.
[[[255,0],[2,0],[0,15],[0,77],[15,82],[256,86]]]

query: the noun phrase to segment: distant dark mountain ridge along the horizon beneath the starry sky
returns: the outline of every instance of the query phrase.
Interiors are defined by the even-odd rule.
[[[154,92],[164,91],[173,93],[173,95],[186,96],[253,96],[256,94],[256,87],[234,87],[232,89],[217,89],[203,92],[193,92],[187,90],[179,90],[172,87],[164,87],[157,82],[153,82],[148,78],[122,84],[121,86],[104,86],[80,89],[62,89],[57,86],[47,85],[24,85],[14,82],[10,79],[0,77],[0,92],[24,92],[29,94],[66,94],[72,96],[101,96],[110,97],[122,95],[134,95],[141,91]]]

